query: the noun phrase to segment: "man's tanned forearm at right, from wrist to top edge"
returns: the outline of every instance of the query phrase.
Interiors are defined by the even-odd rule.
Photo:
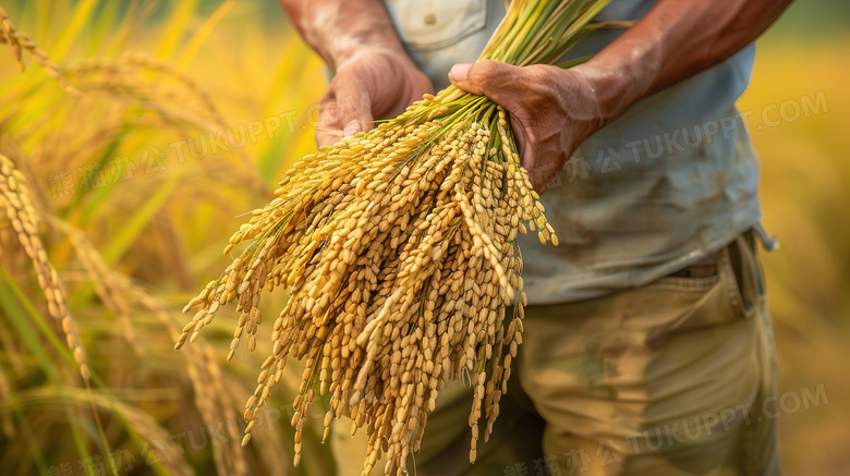
[[[791,0],[659,0],[585,63],[615,119],[639,100],[705,71],[752,42]]]

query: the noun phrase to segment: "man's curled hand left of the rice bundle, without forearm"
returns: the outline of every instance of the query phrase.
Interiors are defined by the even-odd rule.
[[[434,86],[403,52],[364,47],[338,64],[321,98],[316,144],[372,129],[375,119],[394,118]]]

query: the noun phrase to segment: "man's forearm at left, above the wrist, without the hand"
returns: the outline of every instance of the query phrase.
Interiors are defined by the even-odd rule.
[[[280,4],[331,68],[364,47],[404,52],[380,0],[280,0]]]

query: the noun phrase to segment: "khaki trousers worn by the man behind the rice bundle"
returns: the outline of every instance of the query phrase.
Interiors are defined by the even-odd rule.
[[[762,412],[776,363],[752,235],[716,259],[714,276],[529,306],[512,387],[475,464],[472,389],[453,383],[408,474],[780,474],[775,420]],[[351,438],[347,419],[331,429],[338,474],[360,475],[365,436]]]

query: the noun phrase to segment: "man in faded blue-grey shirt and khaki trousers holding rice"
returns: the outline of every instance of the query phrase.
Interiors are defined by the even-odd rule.
[[[335,72],[319,145],[450,81],[510,112],[560,237],[520,242],[530,306],[490,441],[471,465],[472,390],[450,385],[409,474],[779,474],[758,164],[734,101],[789,0],[614,0],[596,20],[636,23],[587,36],[569,70],[473,63],[503,0],[281,3]],[[357,475],[366,444],[341,424],[339,474]]]

